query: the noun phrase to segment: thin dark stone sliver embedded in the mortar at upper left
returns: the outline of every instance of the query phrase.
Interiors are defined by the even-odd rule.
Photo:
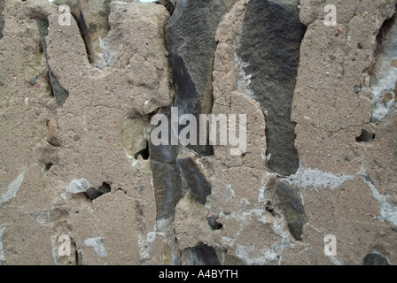
[[[43,53],[47,60],[47,43],[45,42],[45,37],[48,35],[48,27],[49,27],[48,20],[37,18],[37,27],[39,28]],[[48,73],[50,77],[52,93],[55,96],[55,100],[57,101],[57,103],[59,105],[62,105],[63,103],[65,103],[67,96],[69,96],[69,93],[59,84],[57,78],[51,72],[50,66],[48,64],[47,66],[48,66]]]

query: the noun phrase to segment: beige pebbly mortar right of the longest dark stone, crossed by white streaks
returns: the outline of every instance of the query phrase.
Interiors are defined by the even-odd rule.
[[[316,234],[333,234],[338,250],[345,251],[332,257],[312,249],[315,264],[362,264],[368,251],[359,246],[394,258],[388,241],[396,236],[392,233],[395,185],[391,182],[395,180],[390,158],[395,121],[392,111],[381,125],[370,123],[370,70],[377,62],[377,34],[385,20],[393,17],[395,4],[340,4],[334,27],[324,25],[322,5],[301,2],[300,19],[307,33],[300,47],[292,104],[301,164],[292,180],[300,187],[308,218],[302,240],[312,247],[323,246],[323,235]],[[375,139],[357,140],[362,130],[375,134]],[[335,222],[331,224],[330,219]]]

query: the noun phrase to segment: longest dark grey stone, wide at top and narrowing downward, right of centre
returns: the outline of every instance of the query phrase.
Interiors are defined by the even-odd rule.
[[[292,98],[306,27],[300,23],[298,1],[251,0],[247,4],[240,57],[249,65],[249,88],[266,116],[268,170],[289,176],[299,168],[295,149]]]

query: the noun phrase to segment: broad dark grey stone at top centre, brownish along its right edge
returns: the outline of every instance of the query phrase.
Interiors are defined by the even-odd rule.
[[[199,118],[199,114],[212,111],[215,34],[226,11],[226,0],[180,0],[175,6],[166,27],[166,42],[175,76],[175,106],[180,116],[189,113]],[[199,155],[213,154],[208,143],[189,148]]]

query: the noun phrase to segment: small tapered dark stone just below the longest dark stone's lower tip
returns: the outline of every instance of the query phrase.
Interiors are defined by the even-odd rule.
[[[302,230],[307,223],[307,215],[299,195],[299,189],[284,181],[276,180],[276,194],[284,211],[293,238],[302,240]]]

